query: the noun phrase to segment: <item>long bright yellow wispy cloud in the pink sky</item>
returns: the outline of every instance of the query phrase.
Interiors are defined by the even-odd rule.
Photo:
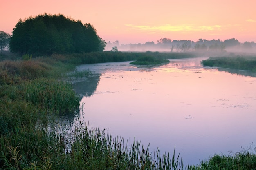
[[[213,30],[221,30],[220,25],[214,26],[194,26],[194,25],[178,25],[172,26],[170,24],[161,25],[161,26],[148,26],[148,25],[133,25],[126,24],[126,26],[141,30],[141,31],[213,31]]]

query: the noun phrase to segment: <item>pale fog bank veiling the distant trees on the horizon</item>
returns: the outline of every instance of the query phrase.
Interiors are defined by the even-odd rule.
[[[199,52],[199,53],[219,53],[219,52],[233,52],[233,53],[256,53],[256,43],[243,42],[232,38],[228,40],[203,40],[199,39],[194,42],[191,40],[171,40],[169,38],[161,38],[155,42],[146,42],[144,44],[119,44],[119,41],[108,42],[105,51],[131,51],[131,52]]]

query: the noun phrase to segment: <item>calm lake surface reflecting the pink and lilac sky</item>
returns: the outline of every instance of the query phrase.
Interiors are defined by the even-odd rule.
[[[256,78],[203,67],[201,60],[80,65],[78,71],[94,73],[74,84],[81,119],[130,142],[135,137],[150,150],[172,155],[175,147],[184,165],[250,147],[256,141]]]

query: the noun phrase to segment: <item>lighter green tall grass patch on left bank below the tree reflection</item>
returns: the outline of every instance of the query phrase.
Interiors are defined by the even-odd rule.
[[[4,93],[12,100],[31,102],[38,108],[57,112],[75,111],[79,108],[79,97],[71,84],[54,79],[34,79],[9,87]]]

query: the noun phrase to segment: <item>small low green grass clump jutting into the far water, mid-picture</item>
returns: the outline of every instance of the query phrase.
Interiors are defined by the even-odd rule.
[[[136,65],[155,65],[155,64],[166,64],[170,61],[163,58],[158,57],[152,57],[152,56],[142,56],[137,58],[136,61],[130,62],[130,64],[136,64]]]

